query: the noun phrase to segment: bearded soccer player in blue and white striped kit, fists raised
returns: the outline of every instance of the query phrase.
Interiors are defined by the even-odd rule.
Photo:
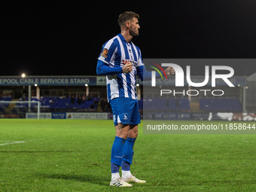
[[[119,15],[121,32],[102,46],[96,72],[106,75],[108,102],[113,111],[116,136],[111,149],[111,186],[132,187],[131,183],[145,183],[130,172],[133,145],[138,136],[139,102],[136,95],[136,75],[143,80],[145,66],[139,47],[131,41],[139,35],[139,14],[126,11]],[[167,68],[170,75],[172,69]],[[151,76],[151,75],[150,75]],[[122,168],[122,178],[119,168]]]

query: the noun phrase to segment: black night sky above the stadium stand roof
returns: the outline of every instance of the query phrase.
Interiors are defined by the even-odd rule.
[[[146,3],[145,3],[146,2]],[[256,2],[248,0],[34,1],[2,5],[0,75],[96,75],[117,17],[140,15],[144,58],[255,58]],[[232,66],[251,75],[254,66]]]

